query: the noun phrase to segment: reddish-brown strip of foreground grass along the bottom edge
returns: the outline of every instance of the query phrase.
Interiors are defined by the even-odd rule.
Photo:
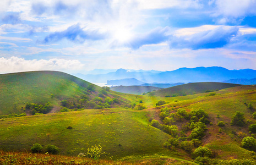
[[[79,158],[62,155],[46,155],[40,153],[28,152],[3,152],[0,151],[0,164],[106,164],[106,165],[122,165],[122,164],[194,164],[172,158],[148,158],[144,160],[127,161],[111,161],[111,160],[94,160],[91,158]]]

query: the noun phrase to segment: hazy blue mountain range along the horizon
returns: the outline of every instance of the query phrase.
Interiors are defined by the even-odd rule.
[[[160,72],[156,70],[126,70],[104,74],[74,74],[81,79],[93,83],[107,83],[108,80],[137,79],[145,83],[197,83],[223,82],[230,79],[254,79],[256,70],[228,70],[222,67],[179,68],[173,71]],[[172,83],[170,83],[172,82]]]

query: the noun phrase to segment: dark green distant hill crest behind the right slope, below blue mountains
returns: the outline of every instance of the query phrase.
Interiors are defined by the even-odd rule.
[[[189,83],[178,86],[169,87],[166,89],[158,90],[151,92],[148,95],[151,96],[182,96],[182,95],[192,95],[192,94],[200,94],[206,91],[217,91],[221,89],[225,89],[228,87],[240,86],[238,84],[228,84],[228,83]]]

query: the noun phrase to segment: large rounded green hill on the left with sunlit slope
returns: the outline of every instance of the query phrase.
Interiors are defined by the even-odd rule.
[[[99,103],[94,98],[99,96],[100,92],[104,92],[101,95],[101,102],[104,102],[106,97],[114,98],[117,95],[112,91],[102,91],[99,86],[62,72],[38,71],[1,74],[0,115],[23,112],[31,114],[32,108],[25,108],[27,102],[42,106],[50,102],[53,105],[51,112],[58,112],[63,108],[62,100],[67,100],[66,107],[69,109],[97,108],[97,105],[92,102]],[[79,102],[81,99],[85,102]],[[122,102],[126,102],[126,100],[123,99],[119,104]],[[112,104],[111,107],[113,106]]]

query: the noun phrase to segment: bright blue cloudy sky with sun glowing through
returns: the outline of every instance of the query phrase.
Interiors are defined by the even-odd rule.
[[[256,0],[1,0],[0,73],[256,69]]]

